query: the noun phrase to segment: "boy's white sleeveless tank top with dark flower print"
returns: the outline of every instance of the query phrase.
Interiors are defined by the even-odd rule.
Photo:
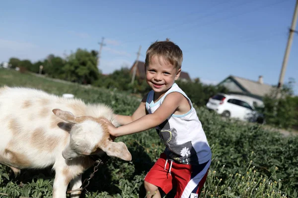
[[[166,146],[164,152],[169,160],[178,163],[205,163],[212,157],[205,132],[191,100],[176,83],[155,103],[153,102],[154,91],[151,90],[147,97],[146,108],[149,113],[153,113],[171,92],[179,92],[185,96],[191,105],[191,109],[183,115],[172,114],[163,123],[155,127],[157,134]]]

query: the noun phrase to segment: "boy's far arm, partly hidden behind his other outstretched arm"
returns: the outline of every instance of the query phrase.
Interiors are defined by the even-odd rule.
[[[116,120],[120,123],[120,125],[126,125],[129,124],[137,119],[139,119],[140,117],[144,116],[147,114],[147,110],[146,110],[146,100],[147,100],[147,96],[148,94],[146,94],[139,107],[137,108],[137,110],[133,113],[132,116],[130,115],[118,115],[115,114],[115,118]]]

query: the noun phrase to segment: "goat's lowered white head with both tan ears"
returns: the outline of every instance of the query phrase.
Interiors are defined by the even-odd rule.
[[[54,114],[74,126],[70,132],[70,142],[63,150],[65,159],[94,154],[103,150],[109,156],[130,161],[132,155],[123,142],[113,142],[104,122],[91,116],[74,116],[70,111],[53,109]]]

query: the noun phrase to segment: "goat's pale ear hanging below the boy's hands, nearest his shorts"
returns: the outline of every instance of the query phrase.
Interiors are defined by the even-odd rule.
[[[120,159],[126,161],[132,160],[132,154],[129,152],[129,150],[123,142],[116,143],[112,141],[107,141],[104,145],[105,147],[103,147],[103,145],[98,145],[98,147],[105,151],[107,155],[119,157]]]

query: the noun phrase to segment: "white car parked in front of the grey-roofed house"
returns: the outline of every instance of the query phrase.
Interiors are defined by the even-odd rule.
[[[224,117],[236,118],[242,121],[259,122],[261,117],[261,114],[255,110],[252,104],[236,96],[217,94],[209,99],[206,106]]]

